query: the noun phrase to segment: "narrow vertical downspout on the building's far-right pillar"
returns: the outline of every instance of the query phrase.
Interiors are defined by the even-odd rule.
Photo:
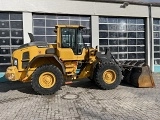
[[[149,43],[150,45],[148,47],[150,47],[150,68],[151,68],[151,71],[153,72],[154,71],[154,66],[153,66],[153,62],[154,62],[154,56],[153,56],[153,19],[152,19],[152,4],[150,4],[148,6],[148,9],[149,9]]]

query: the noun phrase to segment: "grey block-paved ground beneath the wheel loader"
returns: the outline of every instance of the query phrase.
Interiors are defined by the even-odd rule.
[[[160,120],[160,73],[156,88],[125,84],[99,90],[90,81],[37,95],[30,84],[0,83],[0,120]]]

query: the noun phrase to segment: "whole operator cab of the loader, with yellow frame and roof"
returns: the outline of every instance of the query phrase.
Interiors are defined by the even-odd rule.
[[[79,25],[57,25],[57,55],[65,60],[83,60],[86,49],[82,37],[83,28]]]

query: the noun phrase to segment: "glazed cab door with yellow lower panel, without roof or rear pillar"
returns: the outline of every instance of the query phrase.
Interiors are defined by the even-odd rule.
[[[66,60],[79,60],[83,50],[83,42],[80,37],[78,28],[61,28],[60,47],[58,48],[58,55],[62,61]],[[82,59],[82,58],[81,58]]]

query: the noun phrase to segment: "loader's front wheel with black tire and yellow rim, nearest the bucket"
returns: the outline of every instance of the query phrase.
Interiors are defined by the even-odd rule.
[[[118,65],[110,62],[97,64],[94,73],[94,81],[101,89],[114,89],[120,84],[121,79],[122,73]]]

